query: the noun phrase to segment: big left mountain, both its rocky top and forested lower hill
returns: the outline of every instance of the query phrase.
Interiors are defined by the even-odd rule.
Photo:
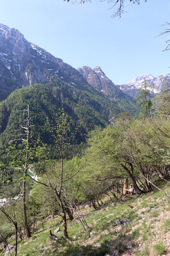
[[[47,117],[55,124],[58,110],[63,108],[72,120],[72,127],[80,124],[75,144],[85,141],[86,134],[96,126],[114,123],[121,112],[134,111],[132,99],[118,87],[110,99],[90,85],[77,69],[3,24],[0,24],[0,92],[0,155],[10,132],[19,129],[25,119],[20,110],[25,110],[26,105],[30,106],[33,123],[39,126],[44,126]],[[50,144],[43,129],[37,135]]]

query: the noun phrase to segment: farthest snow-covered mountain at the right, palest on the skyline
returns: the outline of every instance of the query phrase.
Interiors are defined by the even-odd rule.
[[[128,81],[125,85],[119,85],[120,89],[125,92],[125,94],[135,97],[139,89],[141,89],[144,80],[146,83],[150,85],[148,90],[150,90],[151,94],[154,96],[155,94],[161,92],[164,89],[164,83],[170,86],[170,76],[152,76],[151,74],[143,74],[141,76],[137,76],[131,81]]]

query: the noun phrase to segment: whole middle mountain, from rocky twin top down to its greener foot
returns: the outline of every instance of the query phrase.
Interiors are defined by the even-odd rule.
[[[100,67],[81,67],[77,69],[83,76],[83,78],[88,81],[88,83],[96,90],[102,92],[107,98],[116,102],[118,107],[125,110],[132,111],[134,107],[134,102],[130,96],[127,96],[118,85],[115,85],[102,71]]]

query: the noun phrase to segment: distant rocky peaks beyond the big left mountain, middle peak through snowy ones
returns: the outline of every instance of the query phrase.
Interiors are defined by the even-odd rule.
[[[139,93],[139,89],[141,89],[144,79],[148,85],[150,85],[148,90],[150,90],[152,95],[161,92],[165,81],[170,85],[170,76],[168,75],[163,78],[162,76],[154,77],[151,74],[143,74],[128,81],[126,84],[116,85],[107,78],[107,76],[105,76],[105,73],[98,66],[93,69],[91,69],[91,67],[84,66],[77,70],[93,88],[105,94],[109,99],[114,99],[116,101],[119,101],[120,98],[132,101],[132,98]],[[128,98],[127,96],[132,98]]]

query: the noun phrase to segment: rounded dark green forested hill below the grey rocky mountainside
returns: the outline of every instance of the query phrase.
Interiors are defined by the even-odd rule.
[[[72,127],[79,126],[73,144],[84,141],[86,133],[95,126],[104,127],[114,121],[121,110],[112,101],[104,98],[91,87],[78,88],[53,76],[45,85],[29,85],[15,90],[0,103],[0,148],[6,146],[10,132],[23,124],[25,116],[21,110],[29,104],[32,123],[43,127],[47,117],[56,123],[58,109],[63,108],[70,116]],[[77,124],[79,123],[79,124]],[[49,134],[44,128],[35,128],[33,133],[40,134],[42,141],[51,143]]]

